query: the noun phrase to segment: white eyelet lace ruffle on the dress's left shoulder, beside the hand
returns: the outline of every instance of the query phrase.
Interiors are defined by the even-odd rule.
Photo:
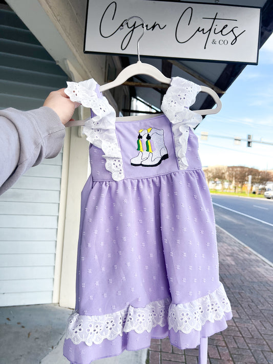
[[[96,89],[98,84],[91,78],[81,82],[67,82],[65,93],[72,101],[76,101],[92,109],[94,117],[87,120],[83,127],[83,133],[87,140],[102,149],[106,159],[106,169],[112,174],[115,181],[124,178],[123,164],[120,147],[115,133],[116,113],[106,97],[98,97]]]

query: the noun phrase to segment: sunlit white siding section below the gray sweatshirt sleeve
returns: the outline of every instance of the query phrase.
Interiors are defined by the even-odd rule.
[[[0,305],[51,303],[62,155],[0,196]]]

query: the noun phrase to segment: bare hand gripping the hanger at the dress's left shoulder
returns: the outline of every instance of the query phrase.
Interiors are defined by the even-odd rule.
[[[62,124],[66,124],[72,117],[75,108],[80,104],[78,102],[73,102],[65,94],[65,89],[60,89],[57,91],[52,91],[46,98],[43,106],[48,106],[51,108],[60,118]]]

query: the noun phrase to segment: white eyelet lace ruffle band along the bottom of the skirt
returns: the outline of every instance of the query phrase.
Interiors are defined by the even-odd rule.
[[[201,331],[207,322],[221,320],[231,307],[223,285],[206,296],[186,304],[172,304],[170,298],[152,302],[145,307],[128,306],[121,311],[106,315],[87,316],[73,313],[66,329],[66,339],[74,344],[101,344],[104,339],[113,340],[123,332],[151,332],[152,328],[169,324],[169,330],[185,334]]]

